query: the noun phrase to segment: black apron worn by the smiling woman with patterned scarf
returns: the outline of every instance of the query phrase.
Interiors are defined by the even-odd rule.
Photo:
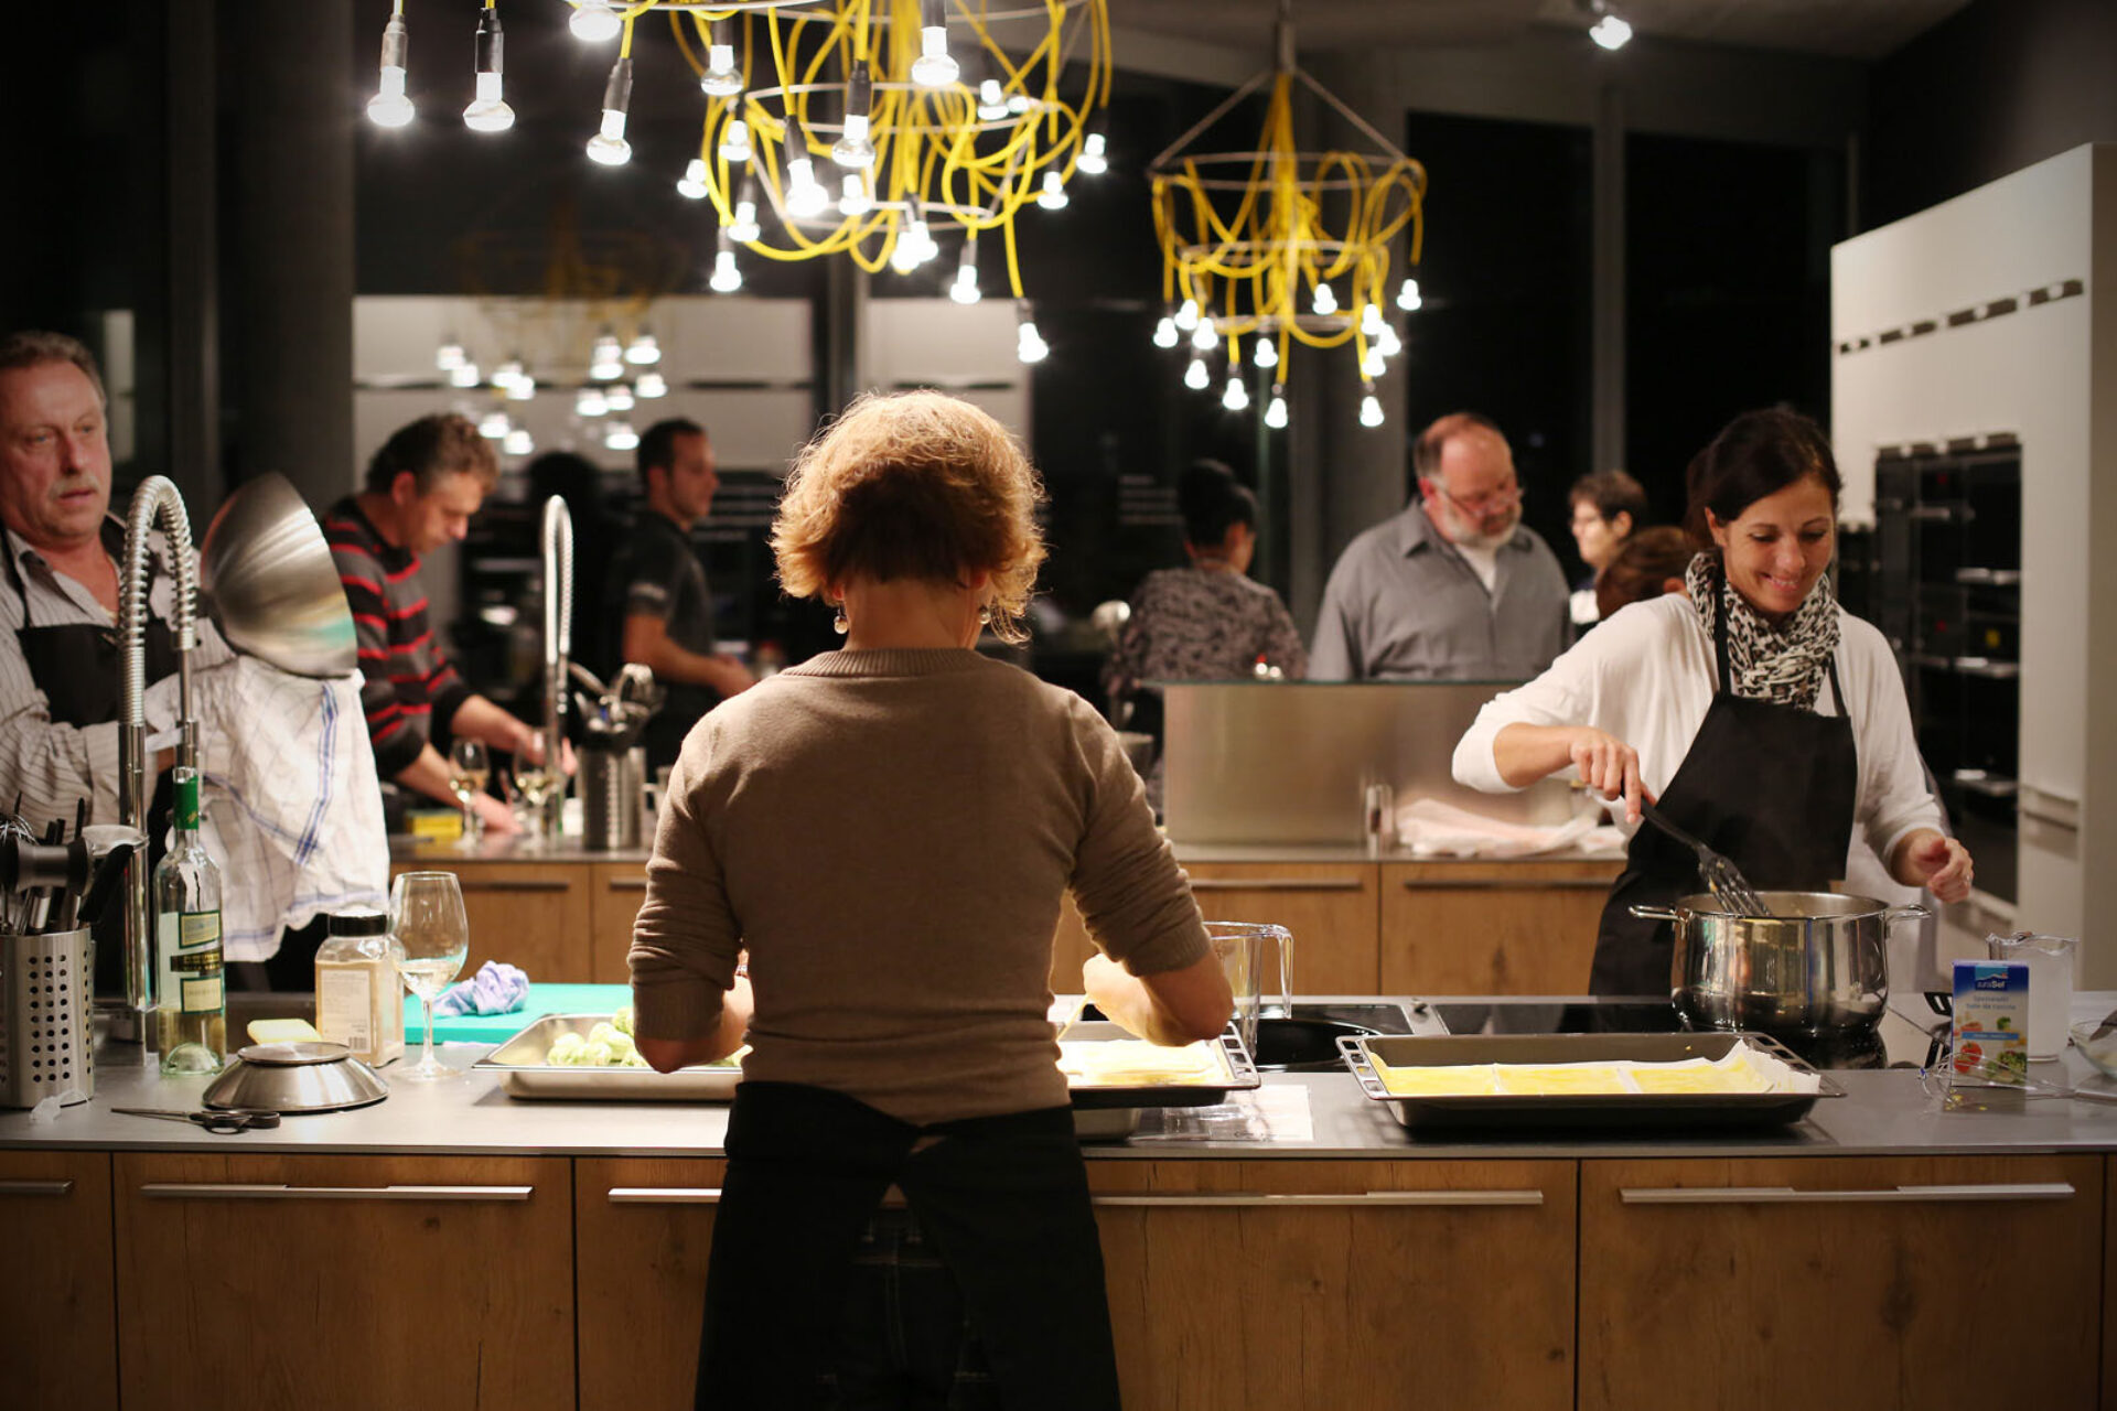
[[[1838,662],[1829,664],[1835,715],[1816,715],[1734,694],[1725,613],[1717,616],[1713,645],[1719,690],[1658,806],[1670,823],[1732,857],[1757,891],[1825,891],[1844,876],[1859,802],[1859,747]],[[1641,823],[1603,905],[1588,992],[1668,994],[1675,927],[1641,920],[1632,905],[1668,905],[1702,891],[1698,855]]]

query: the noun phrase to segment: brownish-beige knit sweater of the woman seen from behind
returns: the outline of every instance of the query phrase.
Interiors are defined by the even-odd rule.
[[[1067,888],[1133,973],[1209,950],[1080,696],[974,652],[828,652],[684,740],[633,924],[637,1030],[707,1032],[747,946],[747,1079],[921,1125],[1058,1106],[1046,975]]]

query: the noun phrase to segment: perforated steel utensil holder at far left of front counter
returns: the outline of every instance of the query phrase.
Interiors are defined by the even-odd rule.
[[[95,1096],[95,941],[87,927],[0,935],[0,1106]]]

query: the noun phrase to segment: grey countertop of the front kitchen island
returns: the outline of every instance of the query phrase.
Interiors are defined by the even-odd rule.
[[[2081,994],[2075,1018],[2100,1018],[2117,994]],[[125,1049],[121,1049],[123,1053]],[[485,1045],[442,1045],[459,1068]],[[135,1049],[129,1049],[135,1053]],[[2034,1064],[2043,1083],[2117,1096],[2087,1060],[2068,1049]],[[383,1068],[390,1077],[390,1068]],[[1766,1157],[1766,1155],[2001,1155],[2117,1151],[2117,1102],[1990,1094],[1982,1106],[1943,1111],[1910,1068],[1831,1075],[1844,1098],[1821,1098],[1789,1128],[1727,1134],[1545,1134],[1509,1138],[1412,1136],[1385,1104],[1365,1098],[1349,1075],[1266,1075],[1266,1085],[1298,1085],[1313,1140],[1118,1140],[1090,1142],[1092,1159],[1577,1159],[1577,1157]],[[95,1098],[38,1119],[0,1113],[0,1149],[99,1151],[256,1151],[334,1155],[559,1155],[686,1157],[720,1155],[728,1106],[722,1102],[557,1102],[510,1098],[489,1073],[442,1083],[398,1083],[383,1102],[351,1113],[286,1117],[271,1132],[214,1136],[186,1123],[121,1117],[114,1106],[195,1108],[207,1079],[163,1079],[116,1056],[99,1064]]]

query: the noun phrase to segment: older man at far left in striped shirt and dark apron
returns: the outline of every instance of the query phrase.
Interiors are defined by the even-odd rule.
[[[193,510],[197,514],[197,508]],[[197,520],[195,520],[197,523]],[[119,819],[119,561],[110,514],[108,406],[95,358],[74,338],[0,338],[0,798],[32,823]],[[146,723],[176,719],[174,584],[150,542]],[[193,666],[229,660],[205,616]],[[155,768],[167,768],[167,755]]]

